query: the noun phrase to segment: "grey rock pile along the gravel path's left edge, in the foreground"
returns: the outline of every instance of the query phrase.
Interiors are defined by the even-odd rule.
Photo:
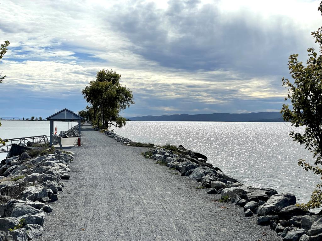
[[[0,240],[32,240],[43,234],[44,213],[58,200],[62,179],[69,179],[71,154],[31,158],[24,152],[0,165]]]

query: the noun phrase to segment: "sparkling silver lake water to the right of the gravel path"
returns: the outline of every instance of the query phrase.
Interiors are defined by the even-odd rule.
[[[207,162],[242,183],[293,192],[298,202],[305,202],[320,179],[297,165],[300,158],[313,164],[312,154],[289,137],[290,126],[274,122],[128,121],[114,130],[133,141],[181,144],[206,155]]]

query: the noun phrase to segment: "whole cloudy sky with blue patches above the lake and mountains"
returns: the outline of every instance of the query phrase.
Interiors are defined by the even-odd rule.
[[[0,2],[0,117],[82,110],[103,68],[133,91],[124,116],[279,111],[322,25],[320,1]]]

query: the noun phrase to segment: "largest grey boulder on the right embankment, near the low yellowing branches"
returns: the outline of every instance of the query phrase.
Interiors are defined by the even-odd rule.
[[[292,193],[275,194],[257,209],[257,214],[259,216],[277,214],[283,208],[295,203],[296,197]]]

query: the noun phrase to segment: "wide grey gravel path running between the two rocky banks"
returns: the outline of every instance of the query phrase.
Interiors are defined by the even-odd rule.
[[[146,148],[125,146],[82,127],[70,180],[36,240],[281,240],[241,207],[145,159]],[[256,215],[255,215],[256,216]]]

